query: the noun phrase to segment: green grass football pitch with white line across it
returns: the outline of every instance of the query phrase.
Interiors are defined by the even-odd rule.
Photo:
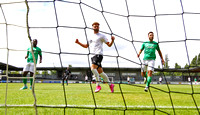
[[[0,83],[0,115],[33,115],[32,90],[19,90],[22,83]],[[28,84],[29,86],[29,84]],[[143,84],[115,84],[110,93],[107,84],[94,93],[95,84],[36,83],[39,115],[195,115],[199,114],[200,85],[154,85],[144,92]],[[66,97],[66,98],[65,98]],[[173,105],[173,106],[172,106]]]

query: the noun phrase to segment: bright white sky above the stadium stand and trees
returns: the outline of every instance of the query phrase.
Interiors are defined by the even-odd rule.
[[[137,58],[148,32],[154,32],[163,57],[184,67],[199,54],[199,0],[28,0],[29,30],[38,39],[43,62],[38,67],[89,67],[89,49],[75,44],[87,43],[93,34],[92,23],[100,23],[100,32],[112,47],[104,45],[103,67],[140,67]],[[127,2],[126,2],[127,1]],[[0,1],[0,62],[24,67],[30,41],[26,28],[26,5],[22,0]],[[55,4],[55,6],[54,6]],[[161,66],[157,53],[155,67]]]

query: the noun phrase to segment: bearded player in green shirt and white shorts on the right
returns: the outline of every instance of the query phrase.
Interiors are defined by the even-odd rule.
[[[153,41],[154,33],[149,32],[148,37],[149,37],[149,41],[144,42],[142,44],[142,47],[138,53],[138,58],[139,58],[140,54],[144,50],[144,58],[143,58],[143,64],[142,64],[142,68],[141,68],[141,75],[144,77],[145,82],[146,82],[146,87],[144,89],[144,91],[146,91],[146,92],[149,89],[149,85],[150,85],[151,79],[152,79],[152,73],[154,71],[156,50],[158,51],[158,54],[160,55],[162,64],[164,65],[164,63],[165,63],[158,43]],[[148,67],[148,72],[147,72],[147,67]],[[146,74],[146,72],[147,72],[147,74]]]

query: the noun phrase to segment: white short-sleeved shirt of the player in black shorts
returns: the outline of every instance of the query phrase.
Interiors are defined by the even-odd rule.
[[[93,54],[103,55],[103,43],[107,43],[108,39],[101,33],[93,34],[89,39],[89,48]]]

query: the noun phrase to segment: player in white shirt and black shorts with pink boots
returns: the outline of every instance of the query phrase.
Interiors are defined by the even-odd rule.
[[[87,44],[82,44],[79,42],[78,39],[76,39],[75,43],[79,44],[80,46],[84,48],[90,48],[91,54],[94,54],[94,56],[91,58],[92,65],[91,65],[91,71],[96,77],[96,92],[99,92],[101,90],[101,86],[99,84],[99,75],[103,78],[105,82],[107,82],[110,86],[111,93],[114,92],[114,84],[112,84],[108,78],[108,76],[103,72],[103,68],[101,65],[101,62],[103,60],[103,43],[107,44],[108,47],[111,47],[115,37],[111,36],[111,42],[109,42],[105,35],[99,33],[99,23],[94,22],[92,24],[94,35],[89,39]]]

